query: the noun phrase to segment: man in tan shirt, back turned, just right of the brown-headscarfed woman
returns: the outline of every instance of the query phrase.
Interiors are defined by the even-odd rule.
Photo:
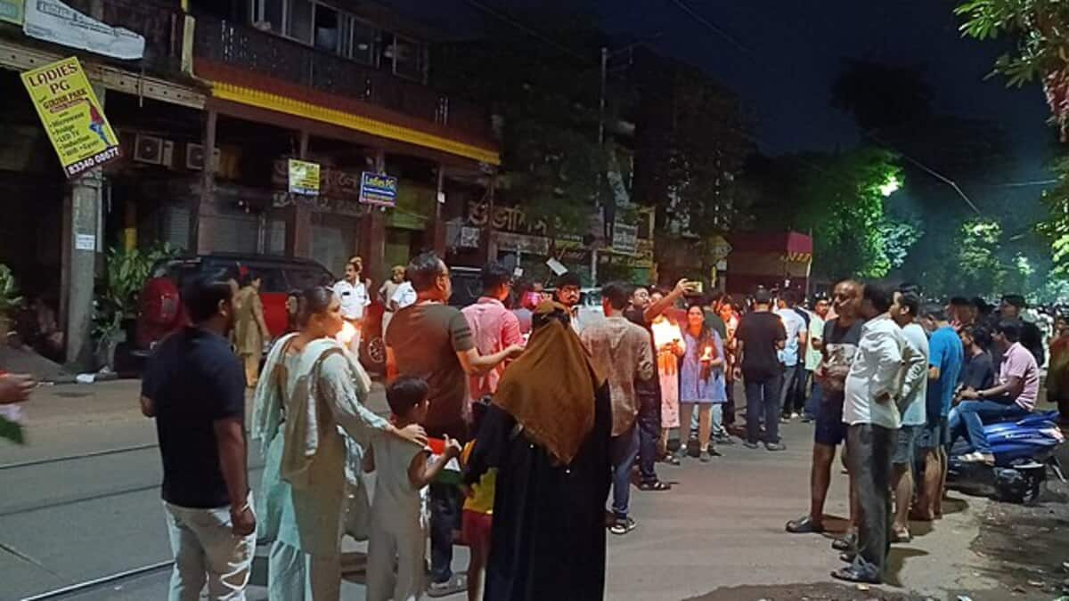
[[[653,346],[650,334],[623,317],[631,302],[631,291],[620,282],[602,288],[605,319],[587,324],[579,334],[583,344],[599,372],[608,381],[613,400],[613,514],[609,531],[625,535],[635,529],[628,514],[631,502],[631,468],[638,456],[639,399],[635,382],[653,377]]]

